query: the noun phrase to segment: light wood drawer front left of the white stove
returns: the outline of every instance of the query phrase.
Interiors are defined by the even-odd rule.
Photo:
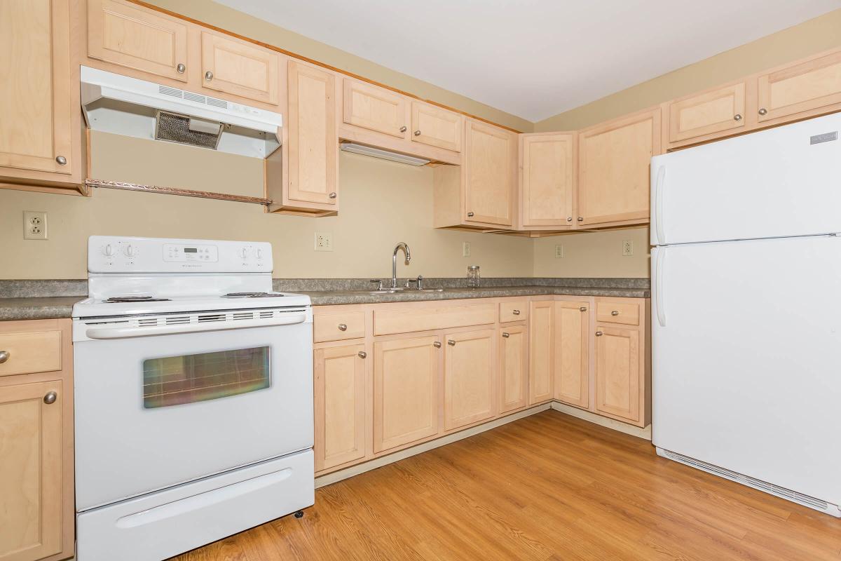
[[[61,331],[0,334],[0,351],[8,352],[0,376],[61,370]]]

